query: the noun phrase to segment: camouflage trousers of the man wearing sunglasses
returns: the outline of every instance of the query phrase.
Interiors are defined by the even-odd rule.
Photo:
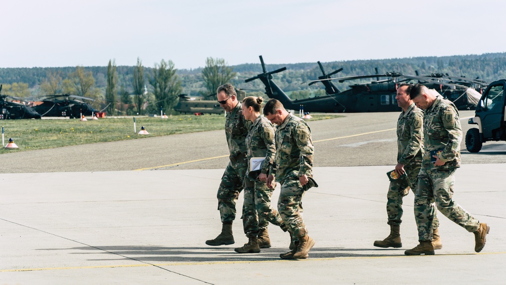
[[[235,220],[235,204],[239,193],[242,191],[242,183],[246,174],[247,166],[232,166],[231,162],[227,165],[222,176],[222,181],[218,188],[218,210],[222,223],[231,223]]]

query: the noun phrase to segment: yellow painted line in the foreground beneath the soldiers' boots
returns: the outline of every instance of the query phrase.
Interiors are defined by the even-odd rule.
[[[437,254],[438,256],[467,256],[467,255],[498,255],[506,254],[506,252],[491,253],[469,253],[469,254]],[[279,263],[279,262],[308,262],[308,261],[325,261],[325,260],[349,260],[349,259],[385,259],[385,258],[407,258],[417,256],[393,255],[393,256],[356,256],[356,257],[327,257],[327,258],[309,258],[298,260],[234,260],[234,261],[207,261],[207,262],[173,262],[158,264],[130,264],[130,265],[98,265],[98,266],[73,266],[73,267],[47,267],[47,268],[23,268],[23,269],[2,269],[0,272],[21,272],[21,271],[42,271],[42,270],[69,270],[69,269],[95,269],[95,268],[119,268],[119,267],[147,267],[147,266],[180,266],[180,265],[220,265],[220,264],[244,264],[244,263]]]

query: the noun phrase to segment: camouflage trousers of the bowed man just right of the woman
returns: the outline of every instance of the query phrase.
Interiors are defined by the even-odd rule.
[[[308,233],[300,211],[304,192],[298,177],[288,177],[281,183],[278,211],[288,231],[296,239]]]

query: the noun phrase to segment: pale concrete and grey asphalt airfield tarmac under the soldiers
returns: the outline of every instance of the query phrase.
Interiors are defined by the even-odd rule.
[[[472,115],[460,112],[464,133]],[[404,256],[417,244],[412,193],[404,199],[403,247],[372,246],[389,231],[386,172],[396,163],[397,117],[309,122],[320,187],[306,193],[304,218],[316,245],[297,261],[279,258],[289,236],[272,225],[272,248],[236,254],[247,241],[239,217],[234,245],[205,245],[221,228],[223,131],[2,154],[0,283],[503,283],[504,143],[471,154],[462,142],[454,199],[490,225],[481,253],[473,234],[439,215],[443,249]],[[279,186],[273,201],[278,193]]]

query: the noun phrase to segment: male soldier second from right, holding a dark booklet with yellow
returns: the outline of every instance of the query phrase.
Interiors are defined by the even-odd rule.
[[[409,98],[412,84],[401,84],[397,89],[397,104],[402,112],[397,119],[397,165],[395,172],[399,176],[404,173],[407,179],[397,179],[390,182],[387,192],[387,215],[390,225],[390,235],[384,240],[374,241],[374,246],[379,248],[400,248],[402,247],[400,236],[400,225],[402,211],[402,198],[416,189],[418,172],[421,168],[421,153],[423,152],[423,129],[424,111],[417,108]],[[439,220],[434,212],[434,249],[441,249],[441,238],[439,238]]]

